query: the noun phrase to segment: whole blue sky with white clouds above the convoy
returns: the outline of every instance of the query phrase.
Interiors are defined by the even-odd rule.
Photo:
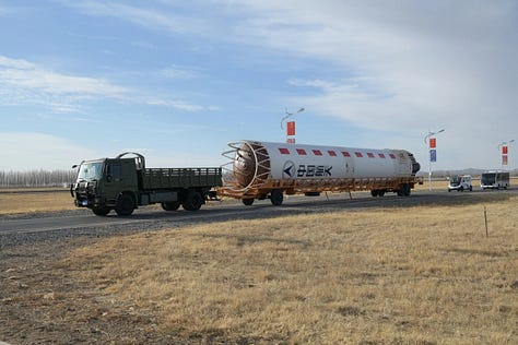
[[[221,165],[301,107],[298,143],[499,168],[516,61],[516,1],[0,0],[0,169]]]

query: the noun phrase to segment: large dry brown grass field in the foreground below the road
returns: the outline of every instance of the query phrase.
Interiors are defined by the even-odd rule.
[[[393,207],[115,237],[63,264],[185,342],[516,344],[517,202],[487,201],[487,238],[482,204]]]

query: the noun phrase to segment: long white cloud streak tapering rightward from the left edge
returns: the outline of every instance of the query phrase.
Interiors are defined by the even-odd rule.
[[[196,69],[169,68],[157,72],[165,78],[197,78]],[[155,93],[155,91],[153,91]],[[1,105],[37,105],[56,112],[79,112],[83,102],[117,99],[127,103],[175,108],[181,111],[213,110],[217,107],[187,100],[146,96],[146,91],[119,86],[105,79],[79,76],[47,70],[21,59],[0,56]]]

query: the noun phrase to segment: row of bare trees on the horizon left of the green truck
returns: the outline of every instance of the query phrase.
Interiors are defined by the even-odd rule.
[[[0,188],[66,187],[75,179],[75,170],[0,171]]]

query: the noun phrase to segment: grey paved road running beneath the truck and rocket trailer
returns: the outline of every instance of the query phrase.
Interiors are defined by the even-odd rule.
[[[480,191],[448,193],[447,191],[414,191],[409,198],[387,194],[384,198],[373,198],[367,192],[356,192],[352,199],[348,193],[304,198],[291,197],[284,200],[282,206],[272,206],[269,200],[258,201],[252,206],[245,206],[238,201],[229,200],[222,203],[211,202],[197,212],[165,212],[157,207],[142,207],[132,216],[118,217],[113,212],[106,217],[95,216],[87,210],[76,210],[67,213],[46,213],[31,217],[0,218],[0,235],[21,233],[42,233],[60,229],[109,227],[120,225],[140,226],[142,229],[153,228],[160,223],[180,226],[193,223],[224,222],[228,219],[252,219],[275,217],[281,215],[322,213],[339,210],[369,209],[384,206],[411,207],[416,205],[479,203],[487,200],[488,195],[508,198],[518,193],[518,189],[501,191]]]

